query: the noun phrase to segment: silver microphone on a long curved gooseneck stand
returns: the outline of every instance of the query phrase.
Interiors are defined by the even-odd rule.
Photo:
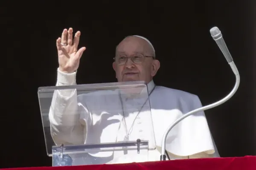
[[[240,84],[240,75],[239,75],[239,71],[236,68],[236,65],[233,61],[233,58],[231,57],[231,54],[229,52],[229,50],[227,49],[227,45],[224,42],[224,39],[222,38],[222,34],[221,31],[218,29],[218,27],[213,27],[210,29],[210,33],[212,35],[213,40],[215,40],[215,42],[217,43],[218,47],[221,49],[221,52],[223,53],[224,57],[227,59],[228,64],[230,65],[233,73],[236,76],[236,83],[232,89],[232,91],[223,99],[219,100],[218,102],[212,103],[210,105],[206,105],[203,106],[201,108],[195,109],[193,111],[190,111],[186,114],[184,114],[183,116],[181,116],[179,119],[175,120],[172,125],[169,126],[169,128],[166,130],[166,132],[163,135],[163,140],[162,140],[162,148],[161,148],[161,156],[160,156],[160,160],[161,161],[165,161],[166,160],[166,155],[165,155],[165,151],[166,151],[166,138],[168,133],[170,132],[170,130],[172,130],[172,128],[177,125],[180,121],[182,121],[183,119],[185,119],[186,117],[198,113],[200,111],[206,111],[208,109],[211,108],[215,108],[218,105],[223,104],[224,102],[227,102],[227,100],[229,100],[237,91],[239,84]]]

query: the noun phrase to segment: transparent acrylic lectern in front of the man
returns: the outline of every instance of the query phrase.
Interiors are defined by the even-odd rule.
[[[156,149],[145,82],[38,88],[52,166],[148,161]]]

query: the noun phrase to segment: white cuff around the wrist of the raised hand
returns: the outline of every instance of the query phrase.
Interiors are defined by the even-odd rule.
[[[76,83],[76,72],[64,73],[57,69],[57,82],[67,85],[74,85]]]

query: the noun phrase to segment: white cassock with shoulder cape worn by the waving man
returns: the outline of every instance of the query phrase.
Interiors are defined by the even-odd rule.
[[[58,71],[57,85],[75,84],[76,73],[65,74]],[[163,86],[155,86],[153,80],[147,86],[148,94],[150,94],[152,122],[145,119],[145,115],[148,115],[146,112],[136,116],[139,113],[138,109],[136,114],[129,113],[131,109],[124,111],[117,93],[116,95],[107,95],[96,91],[92,92],[94,93],[93,95],[90,93],[90,95],[77,95],[76,90],[55,91],[49,111],[51,135],[55,144],[117,142],[122,141],[127,131],[132,129],[131,138],[135,136],[132,141],[136,141],[138,136],[140,139],[155,139],[156,149],[149,150],[148,154],[145,155],[145,159],[141,159],[141,154],[139,158],[137,151],[128,151],[128,154],[120,151],[116,153],[99,152],[90,155],[94,160],[91,163],[159,161],[163,134],[166,129],[183,114],[200,108],[202,104],[198,96],[194,94]],[[111,93],[113,94],[113,91]],[[134,99],[122,100],[125,100],[126,108],[132,108]],[[143,105],[142,101],[135,102],[141,102],[141,105]],[[120,113],[113,113],[114,111],[120,111]],[[122,111],[123,113],[121,113]],[[125,126],[127,127],[123,125],[123,114],[125,115]],[[152,123],[154,139],[149,139],[148,127],[152,126]],[[169,132],[166,139],[166,150],[170,159],[219,157],[203,111],[188,116]],[[80,165],[85,162],[81,154],[71,157],[73,158],[73,165]]]

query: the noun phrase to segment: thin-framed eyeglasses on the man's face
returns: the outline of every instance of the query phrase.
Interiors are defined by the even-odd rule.
[[[140,64],[140,63],[144,62],[145,57],[152,57],[153,59],[155,59],[154,56],[144,56],[143,54],[133,54],[130,57],[121,55],[121,56],[115,57],[113,59],[119,65],[124,65],[127,62],[128,58],[131,58],[131,61],[134,62],[135,64]]]

